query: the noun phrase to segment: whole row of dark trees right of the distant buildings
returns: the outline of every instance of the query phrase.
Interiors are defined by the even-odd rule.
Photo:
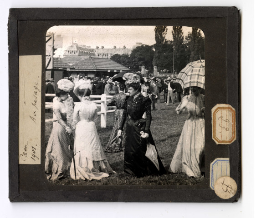
[[[182,26],[173,26],[173,40],[166,40],[166,26],[155,26],[155,41],[153,46],[141,45],[133,49],[130,56],[127,54],[114,54],[111,59],[126,66],[133,71],[141,70],[145,66],[149,71],[153,71],[153,66],[157,66],[158,71],[174,70],[179,73],[189,62],[205,59],[205,38],[201,35],[201,30],[192,28],[192,31],[185,37]],[[124,47],[125,48],[125,47]]]

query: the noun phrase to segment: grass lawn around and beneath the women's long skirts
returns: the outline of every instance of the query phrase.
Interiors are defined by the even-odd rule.
[[[177,104],[177,103],[176,103]],[[166,106],[161,96],[161,110],[152,111],[151,133],[158,149],[159,156],[168,172],[169,165],[176,150],[179,136],[181,134],[187,113],[176,114],[175,106]],[[46,119],[52,118],[51,113],[46,113]],[[100,127],[100,116],[96,123],[98,134],[104,148],[113,127],[113,113],[107,115],[107,128]],[[46,123],[46,146],[51,134],[52,122]],[[146,176],[143,178],[127,178],[123,173],[123,152],[105,153],[110,166],[117,173],[101,180],[73,180],[72,178],[62,179],[54,182],[58,185],[194,185],[200,183],[203,177],[189,179],[185,173],[167,173],[162,176]]]

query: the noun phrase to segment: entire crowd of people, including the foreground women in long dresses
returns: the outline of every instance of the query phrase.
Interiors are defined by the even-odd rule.
[[[55,88],[51,87],[53,79],[46,81],[46,93],[52,93],[52,88],[56,93],[56,97],[47,99],[53,102],[56,119],[46,147],[45,172],[49,180],[102,179],[116,173],[104,151],[124,151],[124,173],[129,177],[166,173],[150,132],[151,107],[161,109],[162,92],[164,104],[180,102],[177,114],[184,109],[189,112],[169,172],[186,173],[191,178],[201,176],[205,146],[201,89],[182,90],[170,77],[141,79],[138,74],[126,73],[123,79],[116,82],[114,77],[92,79],[78,75],[59,80]],[[94,123],[97,106],[90,98],[103,93],[113,95],[108,106],[116,106],[113,130],[105,150]]]

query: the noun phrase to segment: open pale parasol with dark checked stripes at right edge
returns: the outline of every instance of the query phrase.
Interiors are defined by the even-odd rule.
[[[183,89],[191,86],[205,89],[205,60],[197,60],[187,64],[174,79],[174,83],[181,84]]]

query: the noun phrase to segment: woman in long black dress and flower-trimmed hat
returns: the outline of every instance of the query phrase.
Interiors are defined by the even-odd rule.
[[[126,144],[124,149],[124,172],[130,176],[161,175],[165,173],[164,165],[157,154],[159,169],[146,157],[147,143],[155,147],[150,133],[151,100],[140,91],[140,78],[136,74],[124,74],[128,86],[129,97],[125,101],[123,117],[118,137],[121,136],[123,125],[127,119]],[[146,119],[142,116],[146,112]]]

